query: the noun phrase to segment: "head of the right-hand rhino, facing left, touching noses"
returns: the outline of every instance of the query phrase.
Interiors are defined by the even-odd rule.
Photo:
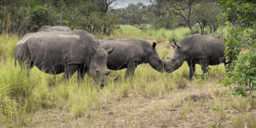
[[[165,70],[167,73],[172,73],[177,70],[179,67],[183,65],[185,55],[183,55],[183,48],[180,44],[171,44],[171,46],[175,49],[174,53],[171,57],[167,57],[165,61]]]

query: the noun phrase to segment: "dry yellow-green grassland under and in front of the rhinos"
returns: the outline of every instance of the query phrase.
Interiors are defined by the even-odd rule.
[[[154,38],[148,40],[153,41]],[[17,40],[13,45],[16,43]],[[156,48],[165,57],[174,51],[168,41]],[[19,67],[14,67],[12,54],[13,51],[6,51],[7,59],[0,61],[0,127],[187,128],[256,124],[256,100],[234,98],[228,95],[230,89],[218,84],[225,75],[223,64],[211,67],[209,79],[195,75],[192,81],[183,79],[189,74],[186,62],[173,73],[158,73],[142,64],[128,82],[125,70],[113,71],[110,75],[120,75],[118,81],[100,89],[88,76],[81,84],[77,83],[76,74],[64,83],[63,74],[53,77],[36,67],[26,79],[25,74],[20,75]],[[200,66],[196,66],[195,73],[201,73]]]

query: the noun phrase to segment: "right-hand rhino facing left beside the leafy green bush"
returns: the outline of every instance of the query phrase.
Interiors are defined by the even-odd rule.
[[[204,73],[207,73],[208,65],[218,65],[225,62],[224,57],[224,38],[215,39],[212,35],[195,34],[180,41],[179,44],[171,44],[175,48],[171,57],[165,61],[167,73],[172,73],[187,61],[189,66],[189,76],[191,80],[195,74],[195,64],[200,64]]]

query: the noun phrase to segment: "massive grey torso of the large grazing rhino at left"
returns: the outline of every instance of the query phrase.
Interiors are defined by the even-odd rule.
[[[70,64],[82,64],[88,59],[87,38],[77,32],[42,31],[26,39],[32,61],[45,73],[62,73]]]

